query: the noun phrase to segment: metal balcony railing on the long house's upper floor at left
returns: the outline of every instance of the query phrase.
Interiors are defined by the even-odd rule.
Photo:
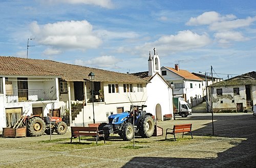
[[[56,90],[12,90],[6,91],[6,102],[56,100]]]

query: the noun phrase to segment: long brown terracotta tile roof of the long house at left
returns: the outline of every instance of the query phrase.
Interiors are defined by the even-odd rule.
[[[3,75],[56,75],[66,81],[83,81],[83,79],[89,80],[88,74],[90,72],[95,74],[94,81],[147,82],[132,74],[106,71],[51,60],[0,57],[0,74]]]

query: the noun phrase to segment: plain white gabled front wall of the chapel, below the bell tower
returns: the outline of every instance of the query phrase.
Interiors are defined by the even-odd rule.
[[[160,120],[163,120],[163,115],[173,114],[172,89],[166,85],[159,75],[153,77],[151,82],[147,84],[146,89],[146,109],[148,113],[151,113],[156,117],[156,106],[157,104],[160,104],[162,111]]]

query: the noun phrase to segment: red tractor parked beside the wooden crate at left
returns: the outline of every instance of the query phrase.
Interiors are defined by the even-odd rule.
[[[53,132],[65,134],[68,129],[60,117],[26,116],[23,123],[27,126],[27,136],[40,136],[44,132],[48,135]]]

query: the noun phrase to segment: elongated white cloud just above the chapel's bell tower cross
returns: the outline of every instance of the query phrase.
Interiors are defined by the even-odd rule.
[[[136,47],[136,49],[143,50],[144,53],[147,53],[145,51],[146,49],[156,47],[158,50],[161,50],[161,52],[175,52],[201,48],[210,43],[211,40],[206,33],[199,35],[186,30],[178,32],[177,35],[162,36],[157,41],[145,43],[143,46]]]

